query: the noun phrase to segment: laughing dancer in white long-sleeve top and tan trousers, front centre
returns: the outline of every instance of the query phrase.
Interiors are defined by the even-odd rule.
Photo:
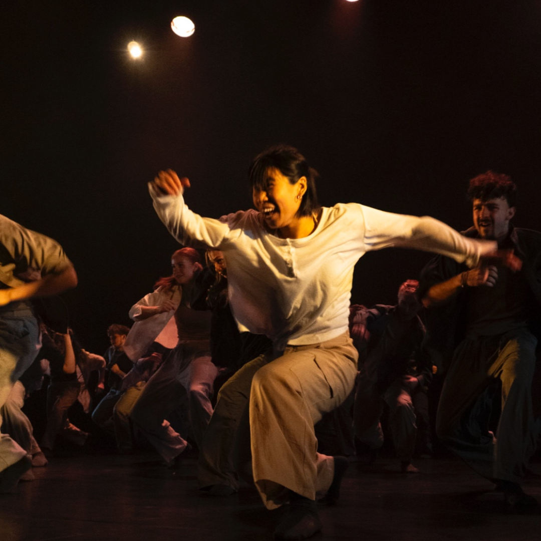
[[[292,504],[274,532],[278,539],[312,536],[321,529],[316,497],[338,497],[344,465],[316,453],[313,425],[345,400],[357,374],[347,333],[355,263],[368,250],[400,246],[473,267],[496,249],[430,217],[357,203],[321,208],[315,176],[298,150],[268,149],[250,168],[256,210],[220,220],[187,207],[183,192],[190,183],[174,171],[161,171],[149,184],[175,239],[223,252],[235,318],[273,340],[273,355],[241,368],[234,385],[250,397],[253,474],[263,502],[268,509]]]

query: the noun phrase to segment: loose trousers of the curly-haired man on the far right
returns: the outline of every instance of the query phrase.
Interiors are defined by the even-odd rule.
[[[454,353],[441,391],[436,431],[466,464],[487,479],[520,483],[536,448],[532,379],[537,339],[527,329],[465,339]],[[485,390],[502,382],[496,438],[488,432],[492,399]]]

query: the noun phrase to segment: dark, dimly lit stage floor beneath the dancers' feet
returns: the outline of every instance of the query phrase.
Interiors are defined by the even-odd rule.
[[[381,541],[538,539],[541,514],[512,514],[489,483],[454,459],[418,461],[398,472],[395,459],[351,464],[340,502],[321,507],[313,539]],[[533,470],[541,473],[541,465]],[[36,480],[0,497],[1,541],[269,541],[281,510],[262,508],[254,489],[229,498],[202,496],[196,461],[168,470],[150,454],[50,459]],[[525,490],[541,500],[539,478]]]

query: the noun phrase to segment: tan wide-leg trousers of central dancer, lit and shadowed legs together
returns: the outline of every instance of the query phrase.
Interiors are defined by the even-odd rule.
[[[314,424],[347,398],[356,375],[357,349],[348,334],[245,364],[218,394],[200,450],[199,486],[238,490],[251,440],[255,483],[269,509],[287,501],[288,489],[311,499],[324,494],[334,463],[317,453]]]

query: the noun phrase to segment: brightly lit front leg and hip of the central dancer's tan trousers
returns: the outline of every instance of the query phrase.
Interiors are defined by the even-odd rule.
[[[357,350],[345,333],[267,357],[250,390],[250,436],[255,485],[275,509],[288,490],[314,500],[331,485],[334,460],[317,452],[314,425],[353,390]]]

